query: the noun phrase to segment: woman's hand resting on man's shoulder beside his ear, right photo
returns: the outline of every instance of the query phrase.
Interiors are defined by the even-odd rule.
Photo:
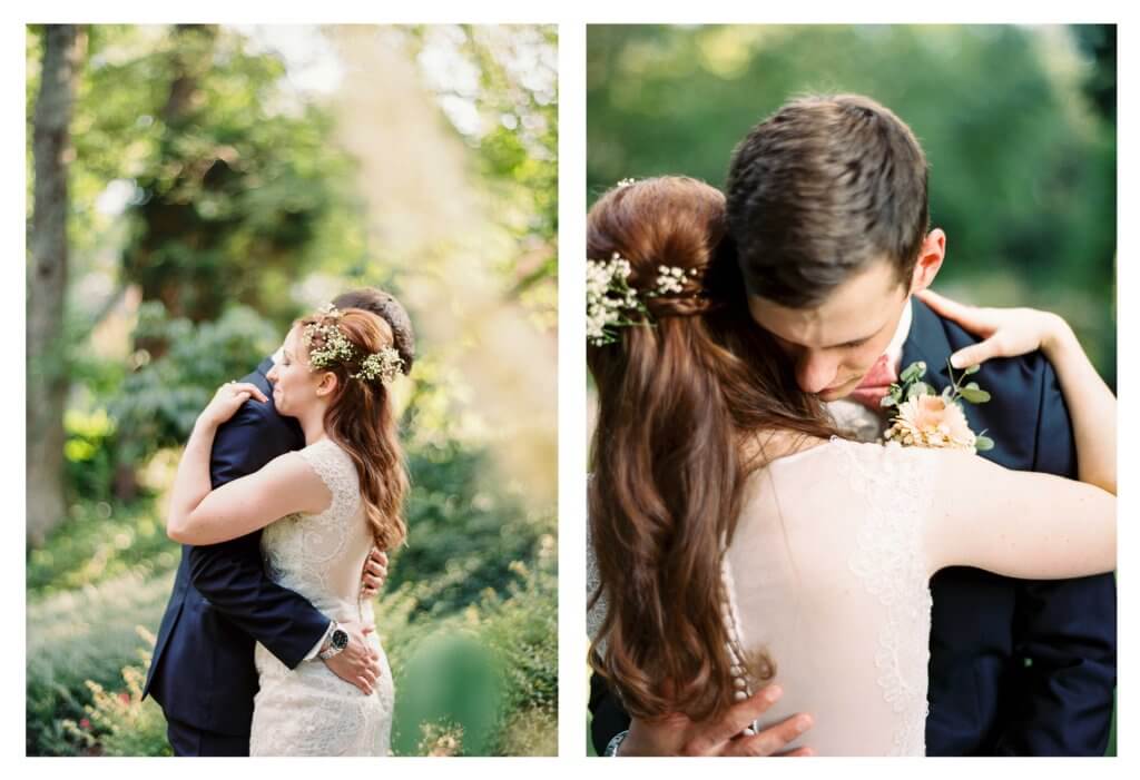
[[[984,339],[950,356],[950,364],[959,369],[979,366],[991,358],[1013,358],[1036,350],[1048,354],[1050,346],[1068,330],[1065,320],[1051,312],[967,306],[930,289],[915,295],[938,314]]]

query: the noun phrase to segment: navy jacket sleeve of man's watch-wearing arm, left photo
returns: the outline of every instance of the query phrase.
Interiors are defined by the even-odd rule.
[[[219,428],[210,458],[213,487],[252,474],[287,448],[264,435],[260,408],[245,403]],[[190,581],[214,609],[294,668],[328,627],[308,599],[266,575],[261,532],[220,544],[189,548]]]

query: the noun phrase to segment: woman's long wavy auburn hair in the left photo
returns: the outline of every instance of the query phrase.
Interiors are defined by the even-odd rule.
[[[336,389],[325,410],[325,430],[348,452],[360,478],[365,517],[376,547],[391,550],[407,536],[404,498],[408,475],[397,433],[391,394],[378,379],[353,377],[369,354],[392,346],[392,328],[382,317],[364,309],[342,309],[339,314],[318,312],[295,322],[304,332],[316,325],[309,351],[325,344],[324,328],[336,327],[352,345],[352,358],[321,368],[336,375]],[[407,366],[404,368],[407,372]]]

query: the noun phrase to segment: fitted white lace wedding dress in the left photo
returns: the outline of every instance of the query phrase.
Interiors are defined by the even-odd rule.
[[[261,537],[266,570],[274,582],[309,599],[336,621],[373,618],[363,601],[360,573],[373,545],[364,516],[356,466],[328,438],[300,451],[332,493],[319,515],[291,515]],[[370,696],[337,678],[318,658],[290,670],[258,643],[260,690],[254,698],[250,755],[388,755],[396,700],[392,672],[375,633],[382,675]]]

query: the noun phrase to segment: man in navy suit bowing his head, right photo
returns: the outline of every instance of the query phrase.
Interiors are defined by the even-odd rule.
[[[922,149],[885,107],[858,96],[785,105],[736,148],[726,195],[739,309],[848,435],[882,433],[879,400],[911,363],[926,363],[938,393],[952,354],[966,351],[963,366],[991,356],[992,345],[912,297],[942,266],[946,237],[929,230]],[[966,416],[996,444],[980,457],[1075,477],[1068,412],[1041,353],[987,360],[978,378],[992,401],[967,404]],[[928,755],[1104,755],[1116,683],[1112,575],[1031,582],[956,567],[930,588]],[[708,734],[733,733],[722,723],[679,730],[679,716],[626,725],[597,675],[591,709],[598,754],[613,741],[618,755],[716,753],[724,742]],[[764,753],[785,749],[788,734],[768,732]]]

